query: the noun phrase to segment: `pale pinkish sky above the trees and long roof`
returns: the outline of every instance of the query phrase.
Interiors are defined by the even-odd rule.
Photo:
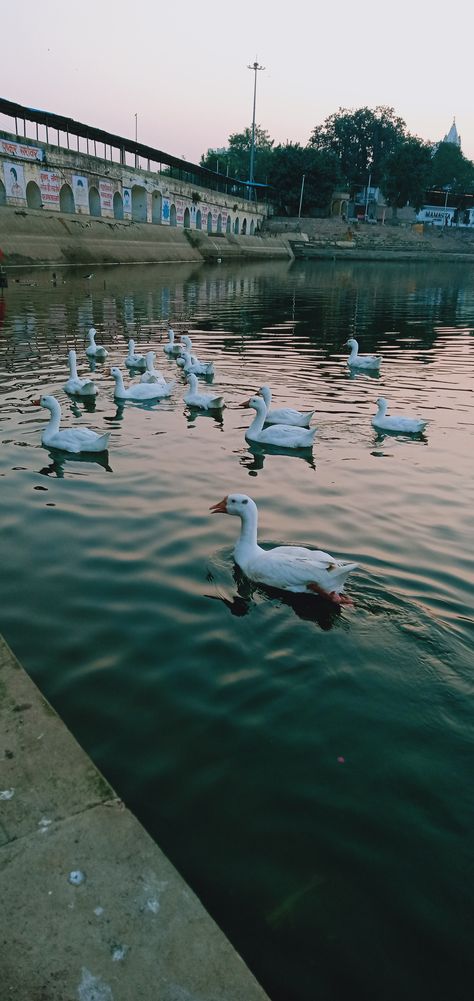
[[[339,107],[392,106],[474,159],[468,2],[23,0],[3,3],[0,94],[199,161],[256,121],[305,145]],[[0,118],[0,128],[5,127]]]

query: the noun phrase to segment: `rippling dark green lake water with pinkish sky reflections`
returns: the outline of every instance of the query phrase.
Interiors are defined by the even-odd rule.
[[[21,275],[0,300],[0,629],[272,1001],[471,1001],[474,274],[286,262]],[[168,321],[212,358],[222,419],[189,413]],[[96,408],[62,391],[69,347]],[[351,376],[343,342],[383,355]],[[174,395],[117,407],[129,336]],[[317,410],[312,455],[252,450],[237,407]],[[47,411],[111,431],[50,455]],[[377,396],[429,418],[378,435]],[[253,411],[252,411],[253,412]],[[263,543],[359,564],[353,609],[234,572]]]

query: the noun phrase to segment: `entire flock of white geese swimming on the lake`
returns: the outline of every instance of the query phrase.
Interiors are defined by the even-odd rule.
[[[86,355],[91,360],[105,360],[108,351],[96,342],[97,331],[91,327],[88,332]],[[382,358],[378,354],[359,354],[359,345],[354,337],[346,341],[350,348],[347,364],[354,370],[379,371]],[[198,390],[198,375],[212,375],[212,361],[202,361],[193,352],[191,338],[188,334],[181,336],[176,343],[172,328],[168,330],[168,342],[164,346],[168,356],[175,357],[187,381],[183,399],[190,407],[204,410],[222,409],[224,399],[212,393]],[[146,355],[135,351],[135,342],[128,342],[128,354],[124,359],[125,366],[133,372],[142,372],[138,382],[124,383],[122,371],[117,366],[110,369],[115,382],[114,397],[118,401],[135,400],[136,402],[153,401],[170,396],[176,387],[176,380],[167,381],[162,372],[154,367],[155,351]],[[80,378],[77,374],[76,352],[68,355],[70,376],[64,390],[79,397],[93,397],[97,387],[91,378]],[[258,393],[250,399],[238,404],[255,410],[255,416],[250,427],[245,432],[248,441],[267,445],[277,445],[283,448],[310,448],[314,441],[317,428],[311,426],[314,410],[306,413],[291,407],[272,408],[271,389],[261,386]],[[108,447],[110,432],[98,434],[88,427],[60,428],[61,406],[53,395],[43,395],[33,400],[36,405],[44,406],[50,411],[50,419],[44,428],[41,441],[47,448],[58,448],[62,451],[100,452]],[[388,416],[388,402],[380,397],[377,400],[377,413],[372,418],[375,428],[404,433],[420,433],[427,421],[419,417]],[[357,564],[347,563],[324,553],[322,550],[310,550],[300,546],[277,546],[272,550],[263,550],[257,542],[258,511],[252,497],[245,493],[230,493],[210,509],[214,514],[234,515],[240,518],[241,529],[238,542],[234,549],[234,559],[243,573],[251,581],[273,588],[291,592],[310,592],[330,601],[335,605],[352,605],[351,599],[344,595],[345,581]]]

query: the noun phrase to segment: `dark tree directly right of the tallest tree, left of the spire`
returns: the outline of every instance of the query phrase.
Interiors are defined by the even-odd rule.
[[[407,202],[417,211],[421,208],[429,186],[431,168],[430,146],[415,136],[408,136],[385,157],[380,187],[392,206],[394,217],[397,208],[402,208]]]

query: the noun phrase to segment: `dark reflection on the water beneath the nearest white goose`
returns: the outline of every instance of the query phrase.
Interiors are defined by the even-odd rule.
[[[332,629],[341,615],[339,605],[333,605],[317,595],[293,594],[290,591],[281,591],[279,588],[270,588],[266,584],[254,584],[245,577],[237,564],[234,565],[232,576],[237,586],[236,595],[233,595],[232,598],[221,594],[205,595],[205,597],[214,602],[222,602],[230,614],[238,619],[247,616],[252,611],[256,595],[271,602],[278,602],[278,605],[288,606],[298,619],[315,623],[324,632]],[[215,583],[211,573],[208,575],[208,581]]]

